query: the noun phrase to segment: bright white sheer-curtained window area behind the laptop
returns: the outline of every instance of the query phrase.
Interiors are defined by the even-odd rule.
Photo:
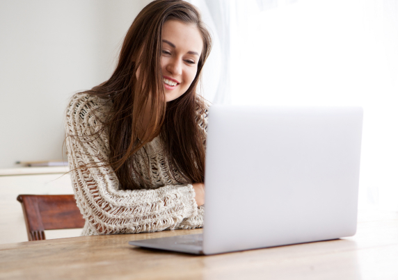
[[[220,47],[212,101],[363,106],[360,208],[397,211],[398,0],[191,2]]]

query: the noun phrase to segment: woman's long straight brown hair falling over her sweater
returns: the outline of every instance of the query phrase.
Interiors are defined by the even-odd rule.
[[[161,28],[170,19],[195,24],[202,34],[203,47],[191,86],[181,97],[166,103],[161,73]],[[101,121],[104,128],[99,133],[109,134],[110,154],[106,164],[113,167],[123,189],[143,188],[152,183],[145,181],[135,167],[134,155],[158,134],[164,142],[170,176],[180,183],[204,181],[205,128],[199,124],[206,108],[196,88],[211,47],[212,38],[193,5],[181,0],[153,1],[141,10],[127,31],[111,78],[86,91],[111,106],[109,116]],[[151,131],[138,138],[148,100]],[[151,169],[148,166],[146,170]],[[176,172],[185,182],[179,181]]]

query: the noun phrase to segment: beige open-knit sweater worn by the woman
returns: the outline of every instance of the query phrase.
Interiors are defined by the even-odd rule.
[[[180,185],[168,175],[168,166],[159,137],[138,151],[142,174],[150,174],[153,185],[143,190],[122,190],[118,178],[103,162],[109,156],[109,139],[97,118],[105,117],[106,107],[97,97],[75,94],[66,112],[66,147],[74,197],[86,224],[83,236],[138,233],[164,229],[202,227],[204,208],[198,207],[190,184]],[[92,114],[94,109],[100,108]],[[200,117],[200,126],[207,118]],[[150,171],[146,166],[150,161]],[[82,165],[95,167],[77,168]],[[75,169],[77,168],[77,169]]]

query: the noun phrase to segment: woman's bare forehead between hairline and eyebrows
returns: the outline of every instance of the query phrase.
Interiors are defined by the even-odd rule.
[[[161,28],[161,39],[172,42],[180,51],[202,53],[202,35],[195,24],[168,20]]]

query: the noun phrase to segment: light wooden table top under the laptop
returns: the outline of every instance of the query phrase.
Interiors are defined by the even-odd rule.
[[[0,279],[398,279],[398,213],[360,216],[351,238],[214,256],[127,244],[201,231],[0,245]]]

